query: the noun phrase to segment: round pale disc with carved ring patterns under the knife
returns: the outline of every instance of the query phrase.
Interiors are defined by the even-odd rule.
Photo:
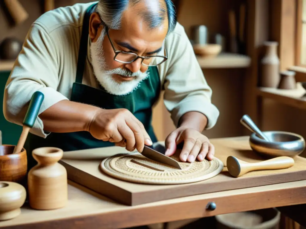
[[[207,180],[223,169],[223,163],[218,158],[193,163],[181,162],[177,155],[171,158],[177,160],[182,169],[155,162],[139,152],[106,158],[100,168],[114,178],[141,184],[187,184]]]

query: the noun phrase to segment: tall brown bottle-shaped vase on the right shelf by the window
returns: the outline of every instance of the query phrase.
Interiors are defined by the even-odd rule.
[[[264,42],[265,55],[261,59],[261,86],[278,88],[280,81],[279,58],[277,55],[278,42]]]

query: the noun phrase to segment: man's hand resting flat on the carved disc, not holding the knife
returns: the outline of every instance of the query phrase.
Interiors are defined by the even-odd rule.
[[[165,140],[166,156],[175,153],[177,144],[184,142],[180,154],[182,162],[194,162],[196,158],[203,161],[206,157],[211,161],[214,158],[215,148],[208,138],[199,131],[186,127],[179,127],[168,135]]]

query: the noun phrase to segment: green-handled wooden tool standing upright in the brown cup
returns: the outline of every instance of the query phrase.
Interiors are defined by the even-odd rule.
[[[23,120],[23,128],[22,133],[20,135],[20,138],[18,140],[17,146],[14,148],[13,154],[20,153],[25,140],[27,139],[28,133],[30,129],[33,127],[34,122],[37,118],[39,109],[41,107],[41,104],[43,103],[43,93],[36,91],[31,98],[28,111],[25,114],[24,120]]]

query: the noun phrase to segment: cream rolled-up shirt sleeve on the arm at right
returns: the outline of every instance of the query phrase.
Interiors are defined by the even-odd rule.
[[[205,129],[211,129],[219,117],[218,108],[211,103],[212,90],[184,29],[172,36],[166,44],[169,63],[164,79],[164,104],[175,126],[186,112],[198,111],[207,117]]]

